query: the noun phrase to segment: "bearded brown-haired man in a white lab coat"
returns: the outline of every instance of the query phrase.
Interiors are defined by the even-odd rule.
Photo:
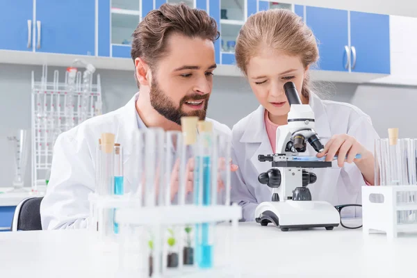
[[[95,190],[95,152],[101,133],[114,133],[124,147],[125,173],[135,167],[129,163],[134,129],[157,126],[179,131],[181,117],[197,116],[213,122],[215,131],[230,134],[224,124],[206,119],[216,67],[213,41],[218,36],[213,18],[185,4],[164,4],[140,22],[131,50],[139,92],[126,106],[58,136],[40,207],[43,229],[87,227],[88,195]],[[129,186],[132,177],[125,174],[124,179]]]

